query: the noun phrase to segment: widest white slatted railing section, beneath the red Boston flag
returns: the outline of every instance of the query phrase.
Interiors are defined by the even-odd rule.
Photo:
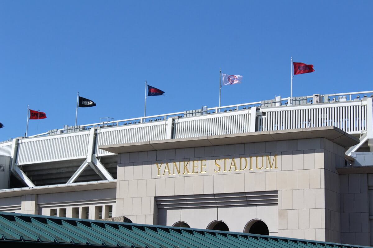
[[[350,134],[367,130],[366,101],[262,108],[259,131],[336,126]]]

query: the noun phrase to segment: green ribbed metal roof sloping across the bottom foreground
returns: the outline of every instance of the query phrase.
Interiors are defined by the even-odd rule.
[[[169,226],[0,212],[0,246],[138,248],[350,248],[363,247]]]

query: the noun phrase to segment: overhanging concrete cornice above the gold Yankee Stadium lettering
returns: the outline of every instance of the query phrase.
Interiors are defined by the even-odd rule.
[[[197,138],[164,139],[160,141],[134,142],[115,145],[101,145],[98,148],[115,154],[126,152],[154,151],[163,149],[189,148],[198,146],[229,145],[291,139],[326,138],[343,147],[359,143],[359,139],[335,126],[319,128],[287,129],[228,135],[203,136]]]

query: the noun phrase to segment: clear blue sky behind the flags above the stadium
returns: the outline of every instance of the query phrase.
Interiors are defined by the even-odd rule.
[[[144,112],[214,107],[219,68],[244,76],[222,105],[290,94],[290,57],[313,64],[293,96],[373,90],[373,1],[0,1],[0,141]]]

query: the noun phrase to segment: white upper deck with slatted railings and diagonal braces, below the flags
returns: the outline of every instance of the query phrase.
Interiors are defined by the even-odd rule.
[[[106,120],[2,142],[0,155],[10,158],[10,171],[28,187],[115,180],[117,154],[115,149],[105,148],[131,144],[131,151],[136,151],[139,146],[134,143],[170,139],[335,126],[359,139],[359,144],[345,151],[351,156],[357,151],[373,152],[372,99],[373,91],[276,97],[196,111]],[[194,143],[198,146],[198,142]]]

